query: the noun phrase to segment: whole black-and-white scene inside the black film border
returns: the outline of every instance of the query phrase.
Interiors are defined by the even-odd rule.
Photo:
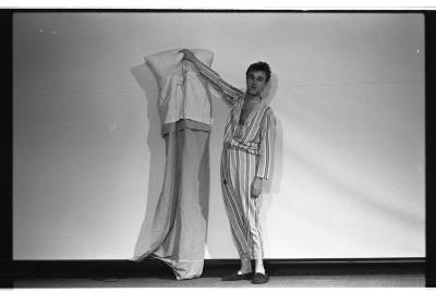
[[[425,288],[425,30],[14,11],[13,288]]]

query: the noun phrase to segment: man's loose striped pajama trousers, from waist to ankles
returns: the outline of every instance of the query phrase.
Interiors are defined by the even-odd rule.
[[[257,156],[225,145],[221,155],[221,188],[227,216],[241,258],[263,258],[259,202],[251,196]]]

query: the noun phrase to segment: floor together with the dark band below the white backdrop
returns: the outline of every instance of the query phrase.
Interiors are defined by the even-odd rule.
[[[225,282],[222,274],[238,270],[237,260],[206,261],[199,279],[177,281],[158,260],[141,264],[113,261],[21,263],[14,288],[424,288],[423,264],[316,264],[265,261],[266,284]]]

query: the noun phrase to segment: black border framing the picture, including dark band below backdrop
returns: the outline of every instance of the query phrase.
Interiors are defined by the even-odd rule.
[[[12,27],[14,13],[50,13],[50,12],[226,12],[226,13],[423,13],[425,16],[425,136],[426,136],[426,257],[405,258],[346,258],[346,259],[266,259],[266,268],[271,273],[292,274],[295,268],[315,268],[323,272],[326,268],[338,270],[338,272],[367,272],[368,270],[389,271],[403,270],[404,272],[421,272],[425,268],[426,286],[436,286],[436,260],[435,260],[435,227],[429,219],[434,219],[435,208],[431,205],[431,171],[433,161],[431,156],[434,150],[428,143],[435,138],[431,127],[431,101],[436,100],[435,76],[436,58],[435,33],[436,11],[426,10],[161,10],[161,9],[7,9],[0,10],[0,38],[3,41],[1,61],[2,73],[2,100],[3,115],[1,122],[2,137],[0,145],[3,151],[2,173],[7,175],[3,180],[3,200],[0,204],[0,288],[13,288],[13,280],[22,277],[107,277],[107,276],[153,276],[168,274],[171,272],[167,266],[155,259],[143,263],[129,260],[13,260],[13,205],[12,205]],[[428,141],[431,139],[431,141]],[[5,152],[5,156],[4,156]],[[233,268],[239,261],[237,259],[207,259],[205,260],[204,276],[217,274],[218,270]],[[354,271],[353,271],[354,270]],[[328,271],[331,273],[331,270]]]

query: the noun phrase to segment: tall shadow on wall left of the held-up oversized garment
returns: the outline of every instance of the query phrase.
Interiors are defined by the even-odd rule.
[[[166,154],[165,142],[160,136],[160,118],[157,108],[159,89],[156,78],[145,63],[136,65],[130,71],[146,95],[145,101],[147,102],[148,119],[147,146],[150,152],[147,188],[144,185],[144,190],[148,191],[147,200],[144,203],[146,204],[146,212],[134,249],[134,256],[138,256],[148,249],[154,213],[164,181]]]

